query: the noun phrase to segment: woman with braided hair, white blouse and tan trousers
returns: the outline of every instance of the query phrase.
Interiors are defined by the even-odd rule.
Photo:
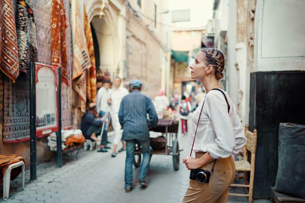
[[[188,170],[213,172],[209,183],[190,180],[183,202],[226,202],[228,187],[235,177],[231,155],[238,153],[247,139],[234,104],[219,86],[224,76],[224,54],[218,49],[203,48],[190,68],[192,79],[200,79],[207,94],[192,114],[190,144],[197,131],[193,145],[196,158],[187,156],[183,163]]]

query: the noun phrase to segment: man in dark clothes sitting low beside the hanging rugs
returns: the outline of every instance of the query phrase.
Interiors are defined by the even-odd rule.
[[[89,110],[86,114],[82,117],[81,120],[81,131],[86,139],[98,141],[97,137],[101,134],[103,121],[109,117],[109,114],[105,114],[102,118],[95,118],[94,114],[96,112],[96,104],[90,103]],[[104,131],[105,132],[105,131]],[[104,134],[103,132],[103,134]],[[105,136],[102,136],[102,139]],[[102,149],[101,152],[107,152],[106,149]]]

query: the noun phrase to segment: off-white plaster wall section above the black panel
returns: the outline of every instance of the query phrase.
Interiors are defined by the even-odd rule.
[[[305,2],[258,0],[254,70],[305,70]]]

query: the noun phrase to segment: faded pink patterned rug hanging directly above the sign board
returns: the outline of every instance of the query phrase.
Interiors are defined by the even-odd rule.
[[[51,64],[52,1],[34,0],[38,62]]]

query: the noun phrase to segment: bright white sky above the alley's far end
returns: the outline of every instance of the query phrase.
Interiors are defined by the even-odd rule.
[[[214,0],[169,0],[169,9],[190,9],[191,21],[172,23],[179,28],[206,26],[208,19],[212,19]]]

